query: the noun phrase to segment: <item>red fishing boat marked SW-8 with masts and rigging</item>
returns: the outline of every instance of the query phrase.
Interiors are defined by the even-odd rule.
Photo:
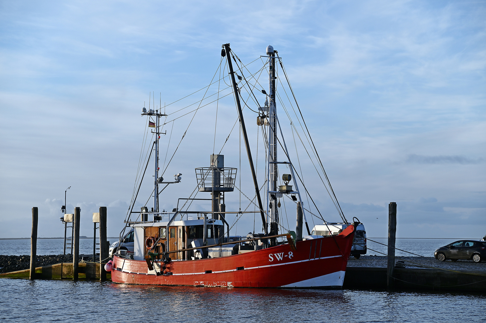
[[[140,174],[138,189],[134,190],[134,198],[125,220],[126,225],[120,235],[121,243],[118,244],[118,250],[113,255],[113,260],[105,268],[111,270],[113,282],[126,284],[341,288],[346,272],[347,259],[359,221],[356,219],[353,224],[348,225],[342,232],[328,237],[312,236],[309,231],[308,214],[316,216],[323,221],[324,219],[306,188],[302,179],[301,168],[299,167],[300,173],[297,172],[295,164],[291,160],[278,121],[277,63],[279,63],[281,71],[288,81],[281,57],[278,56],[278,52],[272,46],[268,46],[266,55],[261,56],[265,60],[262,60],[264,65],[259,72],[261,74],[261,71],[266,69],[269,73],[269,93],[267,94],[265,90],[261,90],[261,93],[266,96],[264,106],[260,106],[253,92],[257,84],[259,84],[258,78],[255,76],[258,72],[245,77],[243,70],[247,70],[246,66],[243,66],[238,56],[231,51],[229,44],[223,45],[222,62],[225,57],[226,64],[222,72],[224,76],[221,80],[224,81],[225,78],[229,78],[230,87],[236,102],[238,121],[240,122],[241,134],[255,187],[255,197],[253,200],[248,198],[250,201],[248,205],[254,205],[255,211],[246,211],[248,207],[244,211],[241,208],[238,211],[226,211],[225,193],[234,191],[237,169],[225,167],[224,155],[221,153],[210,155],[209,167],[195,169],[197,187],[188,198],[178,199],[177,207],[172,212],[160,211],[159,194],[167,186],[181,183],[182,174],[175,174],[174,181],[170,182],[164,182],[162,178],[163,173],[159,176],[158,141],[160,140],[160,134],[162,134],[161,128],[166,124],[166,122],[160,124],[160,119],[166,115],[162,113],[160,108],[149,108],[147,111],[144,107],[142,116],[149,118],[149,127],[155,128],[155,131],[152,133],[156,137],[147,159],[148,166],[152,153],[154,153],[155,180],[154,190],[151,193],[154,207],[151,207],[149,210],[145,205],[141,207],[140,211],[133,210],[143,175],[147,169],[147,166],[145,166],[143,175]],[[236,64],[236,68],[233,68],[232,59]],[[226,67],[227,73],[225,73]],[[253,80],[253,83],[251,80]],[[293,95],[290,82],[288,82],[288,86]],[[247,89],[249,95],[255,98],[254,101],[258,104],[255,109],[257,111],[250,107],[248,108],[258,114],[257,125],[261,128],[261,134],[265,138],[265,180],[261,187],[258,183],[243,119],[240,96],[244,88]],[[245,106],[248,106],[246,102],[243,101],[243,103]],[[295,104],[298,107],[296,101]],[[302,117],[302,114],[300,114],[300,117]],[[299,119],[299,122],[300,120],[305,125],[305,121]],[[296,128],[294,129],[297,131]],[[307,130],[307,126],[305,126],[305,129]],[[298,133],[297,135],[300,136]],[[302,136],[310,139],[308,141],[309,144],[312,142],[308,131]],[[343,221],[347,222],[315,151],[313,142],[309,149],[312,150],[316,157],[315,163],[320,166],[320,170],[315,168],[319,178],[327,189],[339,215]],[[277,158],[278,151],[283,153],[284,158]],[[308,155],[310,156],[309,153]],[[282,174],[281,180],[278,175],[279,165],[290,171],[289,174]],[[294,185],[289,185],[293,179]],[[159,186],[164,184],[165,186],[159,189]],[[316,210],[314,212],[318,213],[318,215],[303,206],[304,203],[298,184],[304,188],[303,194],[306,195],[307,200],[310,199],[312,201],[312,205]],[[262,199],[260,190],[264,186],[266,186],[265,198]],[[241,192],[240,188],[236,188]],[[198,193],[202,192],[202,194],[204,194],[203,192],[210,193],[211,197],[196,199],[195,196],[193,197],[195,191]],[[247,194],[243,195],[247,196]],[[291,201],[290,204],[295,205],[295,231],[285,228],[281,223],[283,218],[282,209],[285,207],[280,203],[282,198],[287,198],[288,201]],[[192,210],[189,206],[193,201],[198,201],[198,204],[208,203],[210,209]],[[179,205],[181,202],[183,203],[182,206]],[[186,207],[188,203],[189,205]],[[246,237],[230,236],[228,216],[235,215],[233,222],[236,222],[246,213],[260,214],[262,221],[261,233],[249,233]],[[136,219],[133,219],[134,215],[137,216]],[[210,218],[208,218],[208,215]],[[324,224],[326,223],[324,221]],[[303,234],[304,229],[307,231],[307,235]],[[127,230],[129,232],[125,235]],[[279,233],[282,231],[286,232]],[[124,237],[130,237],[131,240],[129,242],[133,242],[133,250],[124,247],[124,242],[127,242],[126,239],[128,239]]]

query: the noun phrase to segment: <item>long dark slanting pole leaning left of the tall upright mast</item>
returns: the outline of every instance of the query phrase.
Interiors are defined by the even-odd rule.
[[[228,61],[229,74],[231,74],[231,81],[233,82],[233,92],[236,99],[236,107],[238,108],[238,115],[240,117],[240,124],[242,126],[244,145],[246,147],[246,153],[248,154],[248,161],[250,163],[251,175],[253,176],[253,184],[255,184],[255,192],[257,193],[258,207],[260,208],[261,222],[263,223],[263,229],[265,230],[265,236],[268,235],[267,221],[265,220],[265,213],[263,213],[263,205],[261,204],[260,189],[258,189],[257,174],[255,173],[255,167],[253,166],[253,158],[251,157],[250,144],[248,143],[248,136],[246,135],[246,127],[244,125],[242,106],[240,103],[240,96],[238,95],[238,86],[236,85],[235,73],[233,72],[233,64],[231,63],[231,56],[229,44],[224,44],[224,51],[221,55],[225,56]]]

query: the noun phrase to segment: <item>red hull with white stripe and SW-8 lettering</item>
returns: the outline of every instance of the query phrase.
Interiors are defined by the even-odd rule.
[[[115,255],[111,280],[116,283],[166,286],[342,288],[354,231],[299,241],[239,255],[155,262]],[[156,273],[160,274],[157,275]]]

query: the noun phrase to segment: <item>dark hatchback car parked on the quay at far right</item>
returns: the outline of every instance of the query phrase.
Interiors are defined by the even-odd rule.
[[[474,262],[486,260],[486,241],[460,240],[435,250],[434,257],[440,261],[471,259]]]

